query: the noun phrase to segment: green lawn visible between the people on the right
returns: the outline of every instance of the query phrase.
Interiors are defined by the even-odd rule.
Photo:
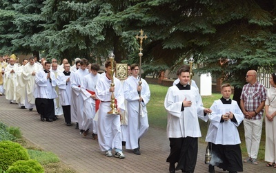
[[[158,84],[149,84],[149,86],[150,86],[151,95],[150,95],[150,102],[148,102],[148,105],[147,105],[147,109],[148,109],[148,121],[149,121],[150,127],[166,130],[167,113],[164,108],[164,99],[168,91],[168,87],[161,86]],[[212,95],[202,96],[201,98],[202,98],[204,107],[210,108],[214,100],[218,100],[219,98],[221,98],[221,94],[213,93]],[[205,138],[206,138],[207,129],[208,129],[207,123],[199,119],[199,125],[201,129],[201,134],[202,134],[202,137],[199,138],[199,142],[206,143]],[[244,141],[244,125],[243,124],[239,125],[238,130],[239,130],[239,137],[241,138],[241,141],[242,141],[241,143],[242,155],[244,157],[247,157],[246,146]],[[259,145],[259,154],[258,154],[259,161],[264,161],[265,140],[266,140],[265,125],[263,125],[262,138],[261,138],[261,143]]]

